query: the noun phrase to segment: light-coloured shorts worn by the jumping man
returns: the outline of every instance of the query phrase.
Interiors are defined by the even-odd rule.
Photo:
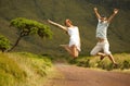
[[[103,51],[103,53],[105,54],[110,54],[109,51],[109,44],[107,41],[107,39],[105,39],[102,42],[98,42],[96,46],[92,49],[92,51],[90,52],[91,56],[95,56],[98,52]]]

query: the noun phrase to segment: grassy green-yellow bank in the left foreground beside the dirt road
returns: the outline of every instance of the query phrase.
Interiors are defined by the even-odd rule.
[[[0,53],[0,86],[42,86],[51,66],[47,57]]]

